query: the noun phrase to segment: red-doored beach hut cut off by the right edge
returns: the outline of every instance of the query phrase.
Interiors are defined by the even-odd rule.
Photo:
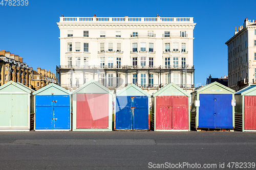
[[[250,85],[234,93],[235,129],[256,132],[256,85]]]

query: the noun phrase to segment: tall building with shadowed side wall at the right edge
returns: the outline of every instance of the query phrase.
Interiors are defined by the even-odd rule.
[[[241,90],[255,84],[256,78],[256,21],[244,20],[236,28],[234,36],[226,42],[228,46],[228,87]]]

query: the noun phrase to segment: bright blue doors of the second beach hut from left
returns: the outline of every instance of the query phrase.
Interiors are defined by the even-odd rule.
[[[69,95],[36,95],[35,101],[35,129],[70,129]]]

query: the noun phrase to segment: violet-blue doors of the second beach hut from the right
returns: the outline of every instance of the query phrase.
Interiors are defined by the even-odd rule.
[[[199,94],[198,128],[233,128],[232,94]]]

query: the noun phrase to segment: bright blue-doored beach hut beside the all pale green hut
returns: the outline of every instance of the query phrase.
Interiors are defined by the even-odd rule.
[[[70,91],[51,83],[35,92],[35,131],[70,131]]]

